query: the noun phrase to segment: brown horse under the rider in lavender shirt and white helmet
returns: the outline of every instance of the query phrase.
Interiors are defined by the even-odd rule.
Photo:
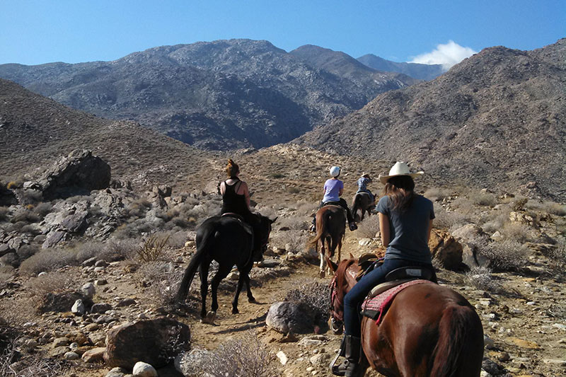
[[[325,205],[316,211],[316,236],[308,242],[308,247],[314,247],[318,253],[320,245],[320,271],[318,276],[325,277],[325,244],[328,244],[328,255],[334,256],[338,248],[337,260],[340,260],[342,238],[346,231],[346,215],[344,209],[337,205]]]

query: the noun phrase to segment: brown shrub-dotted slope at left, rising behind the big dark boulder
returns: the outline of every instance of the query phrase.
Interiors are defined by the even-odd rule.
[[[0,79],[0,179],[48,166],[73,149],[91,149],[112,177],[138,187],[183,182],[209,168],[206,152],[146,129],[72,110]]]

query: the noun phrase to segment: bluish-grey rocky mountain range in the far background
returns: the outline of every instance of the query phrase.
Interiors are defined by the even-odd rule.
[[[289,141],[414,82],[371,69],[352,81],[256,40],[155,47],[113,62],[3,64],[0,77],[205,149]]]

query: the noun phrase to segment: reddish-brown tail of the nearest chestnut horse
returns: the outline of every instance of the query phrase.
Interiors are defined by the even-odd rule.
[[[444,309],[432,354],[432,377],[480,376],[483,327],[473,308],[454,304]]]

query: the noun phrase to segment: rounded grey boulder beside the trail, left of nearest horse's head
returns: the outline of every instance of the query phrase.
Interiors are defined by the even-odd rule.
[[[267,312],[265,323],[277,332],[305,334],[313,332],[316,318],[301,303],[279,301]]]

